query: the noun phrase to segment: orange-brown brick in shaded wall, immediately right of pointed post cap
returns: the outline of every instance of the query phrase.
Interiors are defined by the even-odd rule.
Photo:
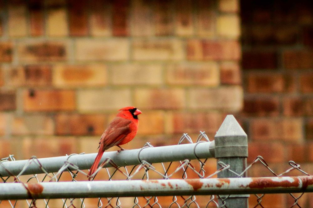
[[[303,141],[303,121],[299,118],[255,119],[251,122],[253,140]]]

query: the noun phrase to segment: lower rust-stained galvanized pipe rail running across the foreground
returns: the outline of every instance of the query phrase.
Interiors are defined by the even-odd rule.
[[[0,200],[297,193],[313,191],[313,176],[2,183],[0,190]]]

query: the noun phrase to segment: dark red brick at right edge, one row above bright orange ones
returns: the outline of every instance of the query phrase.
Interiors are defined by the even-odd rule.
[[[285,51],[283,53],[286,69],[310,69],[313,67],[313,51]]]

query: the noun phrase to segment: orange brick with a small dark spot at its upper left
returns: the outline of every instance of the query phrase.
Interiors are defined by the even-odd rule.
[[[70,90],[25,90],[25,111],[72,111],[76,108],[75,93]]]

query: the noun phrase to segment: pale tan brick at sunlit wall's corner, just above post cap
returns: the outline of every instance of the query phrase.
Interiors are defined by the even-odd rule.
[[[221,109],[239,111],[243,107],[243,89],[240,86],[189,90],[189,107],[193,109]]]

